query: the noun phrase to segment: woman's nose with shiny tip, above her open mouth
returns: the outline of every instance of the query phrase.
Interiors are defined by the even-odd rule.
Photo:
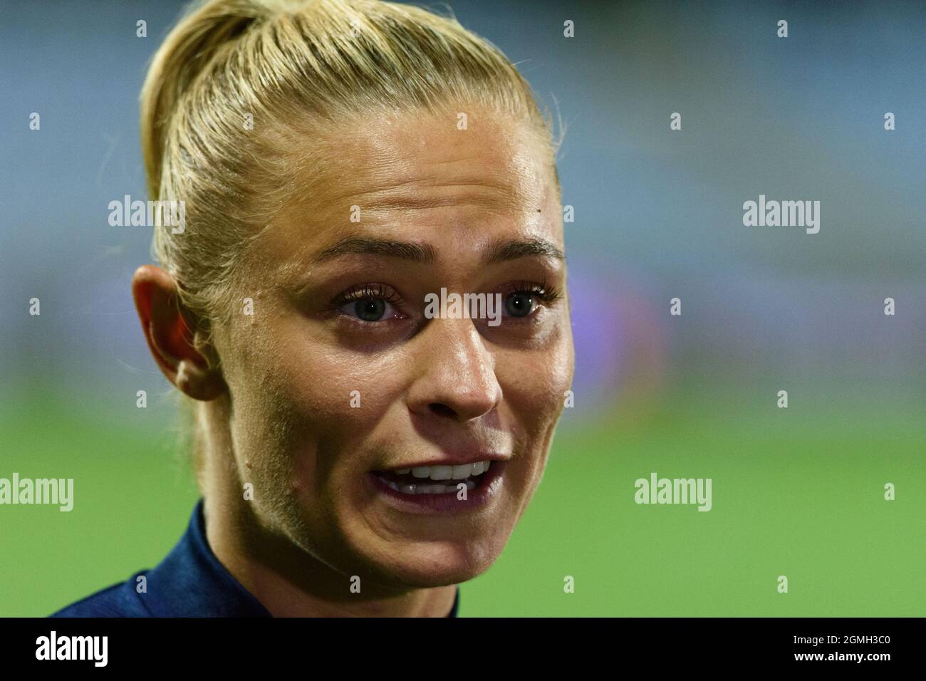
[[[498,406],[502,386],[494,355],[468,319],[435,319],[419,335],[419,372],[408,391],[408,409],[420,416],[468,422]]]

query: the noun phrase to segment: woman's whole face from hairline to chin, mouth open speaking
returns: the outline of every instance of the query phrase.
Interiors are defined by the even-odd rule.
[[[292,179],[314,189],[249,246],[252,284],[216,335],[232,464],[257,517],[382,585],[489,568],[540,483],[572,378],[544,147],[468,113],[468,130],[456,112],[406,113],[332,135],[321,177]],[[471,311],[486,318],[426,315],[442,290],[485,294]]]

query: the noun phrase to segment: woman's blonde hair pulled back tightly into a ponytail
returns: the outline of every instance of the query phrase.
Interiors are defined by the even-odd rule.
[[[141,97],[148,193],[185,206],[183,232],[156,229],[152,245],[178,305],[206,334],[231,310],[245,246],[294,192],[282,182],[294,177],[294,141],[305,150],[351,117],[459,104],[527,122],[550,150],[558,190],[551,117],[507,57],[456,19],[379,0],[192,6]]]

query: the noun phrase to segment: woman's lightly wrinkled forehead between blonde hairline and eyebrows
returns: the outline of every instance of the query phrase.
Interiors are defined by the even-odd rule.
[[[282,270],[351,235],[429,244],[438,257],[502,237],[562,248],[549,151],[523,123],[480,109],[389,113],[345,122],[322,148],[264,245]]]

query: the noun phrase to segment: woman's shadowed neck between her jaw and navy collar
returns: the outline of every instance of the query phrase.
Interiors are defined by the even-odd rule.
[[[216,402],[207,404],[221,409]],[[373,584],[365,576],[354,593],[351,575],[332,569],[262,523],[254,502],[244,499],[231,434],[226,427],[215,427],[217,421],[204,419],[200,425],[206,434],[200,476],[206,539],[219,562],[272,615],[444,617],[450,612],[457,586],[408,588]]]

